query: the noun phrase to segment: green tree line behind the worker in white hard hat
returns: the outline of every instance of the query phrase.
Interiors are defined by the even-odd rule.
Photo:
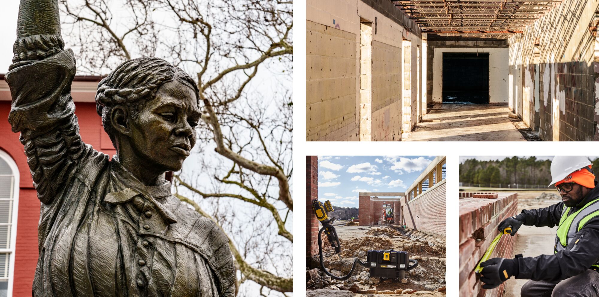
[[[592,160],[595,175],[599,174],[599,158]],[[459,165],[461,183],[482,184],[549,184],[551,161],[537,157],[506,157],[503,160],[465,160]]]

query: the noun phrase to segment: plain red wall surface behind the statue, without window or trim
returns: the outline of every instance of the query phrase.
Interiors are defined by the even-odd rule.
[[[13,296],[21,297],[31,296],[38,258],[37,227],[40,220],[40,201],[33,186],[25,150],[19,143],[19,133],[11,131],[7,120],[10,104],[10,101],[0,101],[0,119],[3,119],[0,120],[0,150],[10,154],[20,173]],[[78,117],[81,139],[85,143],[110,156],[116,153],[110,141],[106,142],[109,138],[102,128],[95,103],[75,102],[75,114]]]

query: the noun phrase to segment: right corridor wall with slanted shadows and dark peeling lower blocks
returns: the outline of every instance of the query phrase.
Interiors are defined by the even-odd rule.
[[[542,140],[598,137],[596,38],[588,29],[597,10],[598,0],[564,1],[508,41],[510,107],[527,125],[538,117]]]

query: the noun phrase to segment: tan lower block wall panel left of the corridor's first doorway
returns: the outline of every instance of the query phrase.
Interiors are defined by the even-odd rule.
[[[306,140],[358,140],[356,34],[306,23]]]

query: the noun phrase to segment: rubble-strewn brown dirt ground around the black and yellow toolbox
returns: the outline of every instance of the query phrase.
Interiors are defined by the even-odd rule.
[[[355,296],[374,294],[389,296],[415,294],[419,296],[444,296],[445,292],[445,241],[437,235],[404,230],[400,226],[346,226],[347,222],[335,223],[341,243],[341,259],[334,254],[323,238],[325,267],[332,274],[343,276],[352,268],[357,256],[366,260],[368,250],[407,251],[410,259],[419,262],[418,267],[406,272],[403,280],[370,277],[368,268],[358,265],[353,277],[346,281],[332,280],[319,268],[318,256],[312,260],[313,269],[306,268],[307,290],[350,290]],[[319,292],[322,290],[319,290]],[[308,296],[312,296],[308,294]],[[314,295],[316,296],[316,295]],[[320,296],[320,295],[319,295]],[[371,295],[369,295],[371,296]]]

